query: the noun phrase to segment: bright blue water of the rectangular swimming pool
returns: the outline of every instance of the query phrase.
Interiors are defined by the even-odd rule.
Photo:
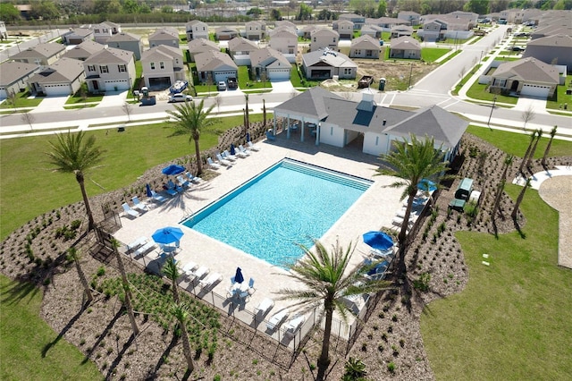
[[[373,182],[284,159],[184,225],[284,267],[299,259]]]

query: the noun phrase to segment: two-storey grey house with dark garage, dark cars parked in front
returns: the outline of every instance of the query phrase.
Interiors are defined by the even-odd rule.
[[[177,80],[185,80],[185,65],[179,47],[159,45],[141,54],[145,86],[167,89]]]

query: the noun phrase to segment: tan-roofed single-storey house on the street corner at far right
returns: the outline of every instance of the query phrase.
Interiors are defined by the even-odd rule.
[[[528,97],[552,97],[559,85],[558,69],[534,57],[501,63],[491,77],[491,92],[500,89]]]

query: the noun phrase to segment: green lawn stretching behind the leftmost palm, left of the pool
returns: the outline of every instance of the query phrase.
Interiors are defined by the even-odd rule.
[[[261,120],[261,114],[250,116],[251,122]],[[214,129],[226,131],[242,122],[242,116],[220,118]],[[189,137],[172,136],[172,129],[167,123],[128,126],[121,133],[116,130],[109,130],[108,134],[107,130],[91,133],[97,137],[97,145],[107,152],[105,166],[86,177],[89,196],[127,187],[148,168],[176,157],[194,155],[194,143],[189,143]],[[54,138],[47,140],[54,141]],[[216,144],[216,134],[201,134],[201,149]],[[46,163],[45,154],[47,150],[46,137],[43,136],[0,140],[0,239],[4,240],[14,229],[46,211],[81,199],[80,187],[72,174],[49,171],[50,165]],[[34,185],[22,185],[29,183],[30,174],[34,174]],[[97,187],[94,182],[105,189]]]

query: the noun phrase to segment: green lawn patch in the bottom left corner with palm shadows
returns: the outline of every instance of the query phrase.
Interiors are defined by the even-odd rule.
[[[42,292],[38,288],[4,275],[0,275],[0,288],[0,379],[104,379],[92,361],[82,363],[85,357],[76,347],[65,339],[55,343],[58,334],[39,318]]]

